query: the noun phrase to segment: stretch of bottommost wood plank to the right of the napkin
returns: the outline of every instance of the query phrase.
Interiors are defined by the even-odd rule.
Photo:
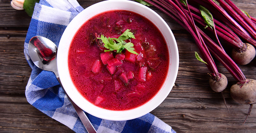
[[[228,113],[222,99],[167,98],[152,114],[177,132],[256,132],[256,109],[243,125],[249,105],[227,99]]]

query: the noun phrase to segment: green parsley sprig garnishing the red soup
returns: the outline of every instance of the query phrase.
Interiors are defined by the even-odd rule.
[[[101,35],[101,37],[97,37],[97,39],[102,40],[104,47],[107,48],[104,52],[116,50],[117,53],[120,53],[122,50],[127,49],[132,54],[138,54],[134,51],[133,44],[131,42],[125,42],[125,40],[130,38],[135,39],[133,33],[130,32],[129,29],[125,30],[125,32],[118,38],[107,38],[103,35]],[[117,43],[114,40],[117,41]]]

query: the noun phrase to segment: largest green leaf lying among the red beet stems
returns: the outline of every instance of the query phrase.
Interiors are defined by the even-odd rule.
[[[213,15],[204,6],[199,5],[199,9],[204,19],[204,22],[206,23],[206,27],[204,28],[207,28],[209,26],[211,29],[213,29],[214,28]]]

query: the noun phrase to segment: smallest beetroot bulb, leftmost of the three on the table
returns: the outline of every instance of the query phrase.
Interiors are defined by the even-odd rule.
[[[222,92],[227,87],[227,77],[222,73],[219,73],[218,77],[218,80],[211,77],[209,79],[209,84],[213,91]]]

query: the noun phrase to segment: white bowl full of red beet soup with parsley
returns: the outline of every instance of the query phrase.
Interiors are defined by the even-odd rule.
[[[65,29],[57,68],[69,97],[107,120],[155,109],[177,77],[178,49],[166,22],[133,1],[109,0],[80,12]]]

